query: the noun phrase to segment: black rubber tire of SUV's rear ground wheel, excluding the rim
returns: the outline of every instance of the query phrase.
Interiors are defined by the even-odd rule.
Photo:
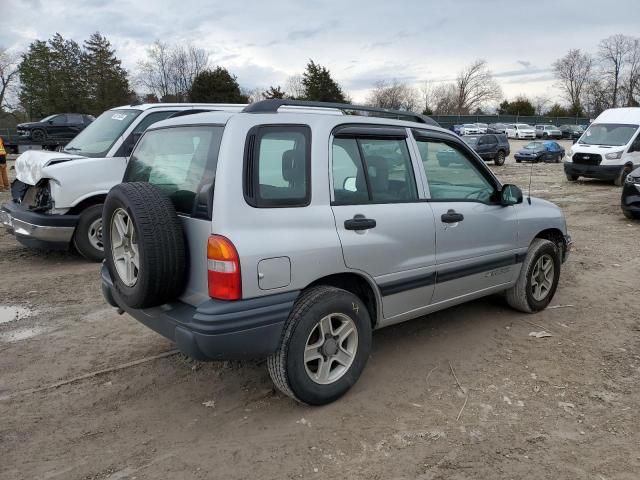
[[[304,351],[320,319],[346,315],[355,324],[357,349],[351,365],[329,384],[316,383],[307,372]],[[269,375],[285,395],[309,405],[324,405],[344,395],[358,380],[371,352],[371,318],[365,304],[346,290],[312,287],[296,301],[284,327],[280,346],[267,360]],[[331,364],[330,364],[331,365]]]

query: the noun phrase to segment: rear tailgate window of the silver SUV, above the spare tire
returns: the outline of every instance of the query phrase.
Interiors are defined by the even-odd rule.
[[[223,131],[209,125],[148,131],[131,154],[124,181],[156,185],[178,212],[210,218]]]

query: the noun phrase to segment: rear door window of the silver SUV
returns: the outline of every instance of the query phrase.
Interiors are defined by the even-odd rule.
[[[418,200],[406,140],[336,138],[332,151],[335,204]]]

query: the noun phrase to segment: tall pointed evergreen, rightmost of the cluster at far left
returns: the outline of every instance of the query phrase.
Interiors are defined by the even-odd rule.
[[[96,32],[84,42],[84,72],[87,79],[87,111],[98,115],[126,104],[132,97],[127,72],[111,43]]]

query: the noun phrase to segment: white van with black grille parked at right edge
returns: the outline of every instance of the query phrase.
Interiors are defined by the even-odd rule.
[[[567,180],[613,180],[618,186],[640,166],[640,107],[602,112],[567,153]]]

